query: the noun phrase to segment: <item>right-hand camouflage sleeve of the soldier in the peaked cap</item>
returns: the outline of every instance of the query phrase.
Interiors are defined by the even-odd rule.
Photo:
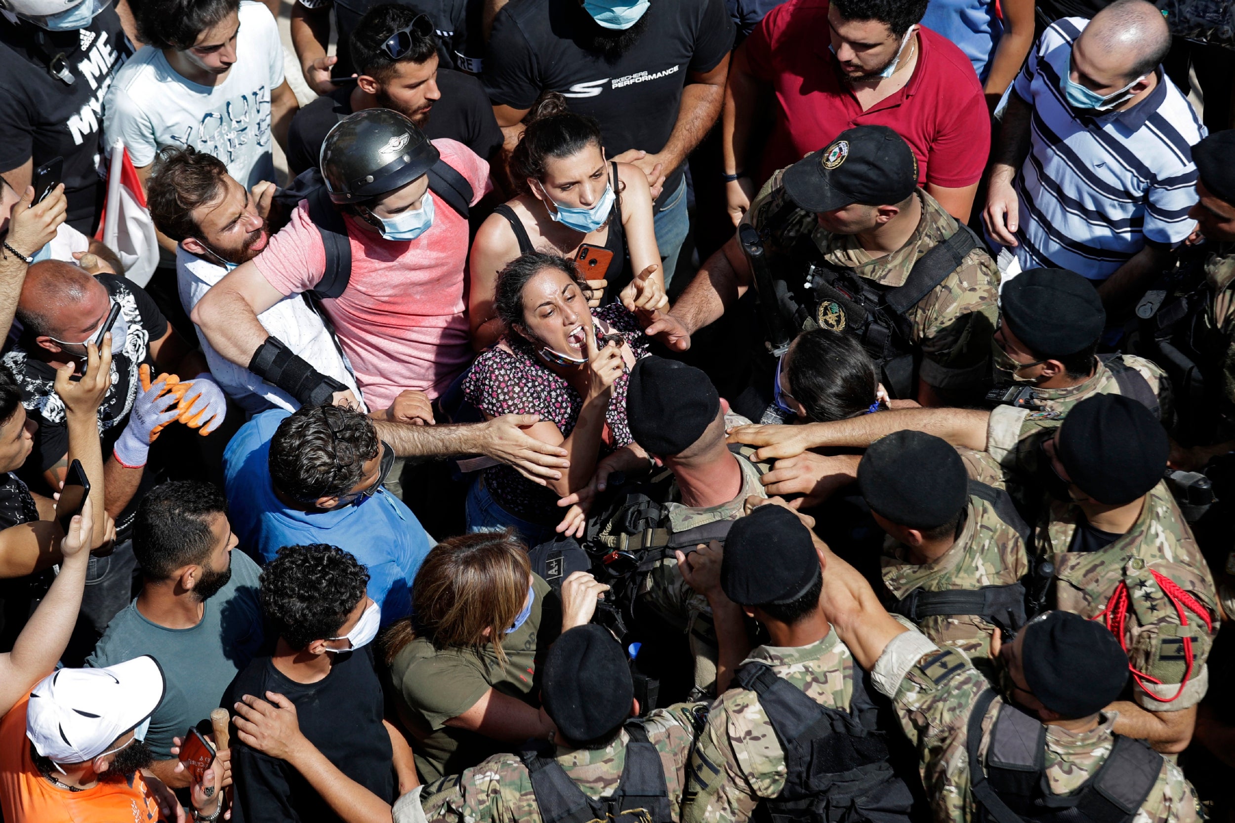
[[[909,321],[923,350],[924,381],[955,391],[989,379],[998,301],[999,270],[982,249],[969,252],[961,268],[919,301]]]

